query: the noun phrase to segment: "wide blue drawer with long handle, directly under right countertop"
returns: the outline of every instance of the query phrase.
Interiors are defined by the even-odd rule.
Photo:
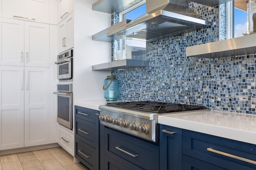
[[[193,131],[182,131],[182,153],[230,170],[255,170],[256,145]],[[228,155],[224,155],[228,154]],[[232,155],[238,156],[232,158]]]

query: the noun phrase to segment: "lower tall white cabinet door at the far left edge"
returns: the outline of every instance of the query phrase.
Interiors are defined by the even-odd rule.
[[[24,147],[24,67],[0,67],[0,150]]]

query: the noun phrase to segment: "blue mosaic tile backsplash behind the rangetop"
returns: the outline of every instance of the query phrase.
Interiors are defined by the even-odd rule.
[[[201,105],[256,114],[256,55],[186,57],[186,47],[226,36],[224,5],[208,7],[193,3],[190,6],[212,21],[212,27],[147,42],[148,67],[112,71],[119,80],[118,100]]]

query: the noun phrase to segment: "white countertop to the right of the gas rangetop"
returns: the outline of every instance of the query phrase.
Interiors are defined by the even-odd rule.
[[[194,111],[159,115],[158,123],[256,145],[256,115]]]

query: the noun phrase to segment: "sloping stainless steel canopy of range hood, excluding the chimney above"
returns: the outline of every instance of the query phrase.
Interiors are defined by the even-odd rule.
[[[107,37],[129,37],[149,40],[177,31],[188,32],[210,25],[211,23],[205,20],[159,10],[108,32]]]

